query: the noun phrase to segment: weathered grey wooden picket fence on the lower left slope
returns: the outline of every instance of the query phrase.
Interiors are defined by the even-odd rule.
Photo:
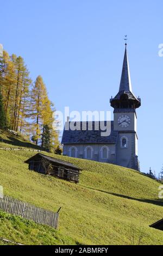
[[[3,199],[0,198],[0,209],[39,224],[58,228],[59,212],[48,211],[8,196],[4,196]]]

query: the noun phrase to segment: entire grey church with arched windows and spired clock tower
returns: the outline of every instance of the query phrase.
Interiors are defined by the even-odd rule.
[[[88,128],[89,121],[85,122],[86,129],[84,130],[82,130],[83,122],[76,122],[81,127],[80,130],[64,129],[61,142],[63,155],[140,170],[137,152],[136,108],[141,106],[141,99],[134,95],[131,87],[127,44],[120,88],[117,95],[111,97],[110,105],[114,108],[110,135],[101,136],[100,128],[95,129],[97,121],[93,121],[92,130]]]

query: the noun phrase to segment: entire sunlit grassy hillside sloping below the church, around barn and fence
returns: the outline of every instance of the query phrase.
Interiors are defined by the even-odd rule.
[[[73,184],[29,171],[24,161],[34,154],[0,150],[0,185],[5,194],[36,206],[53,211],[61,206],[59,230],[13,216],[2,221],[1,213],[0,237],[25,244],[130,245],[134,225],[137,237],[143,229],[143,244],[163,244],[163,232],[149,228],[163,217],[158,182],[112,164],[55,155],[83,169],[79,184]]]

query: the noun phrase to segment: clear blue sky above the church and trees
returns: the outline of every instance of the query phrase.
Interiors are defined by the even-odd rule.
[[[0,0],[0,43],[41,75],[57,110],[112,111],[128,35],[141,170],[159,172],[162,156],[163,43],[161,0]]]

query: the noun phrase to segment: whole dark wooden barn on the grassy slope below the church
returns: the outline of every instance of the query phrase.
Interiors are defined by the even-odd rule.
[[[79,182],[81,169],[70,162],[38,153],[24,163],[29,164],[29,170],[35,170],[38,173],[53,175],[76,183]]]

